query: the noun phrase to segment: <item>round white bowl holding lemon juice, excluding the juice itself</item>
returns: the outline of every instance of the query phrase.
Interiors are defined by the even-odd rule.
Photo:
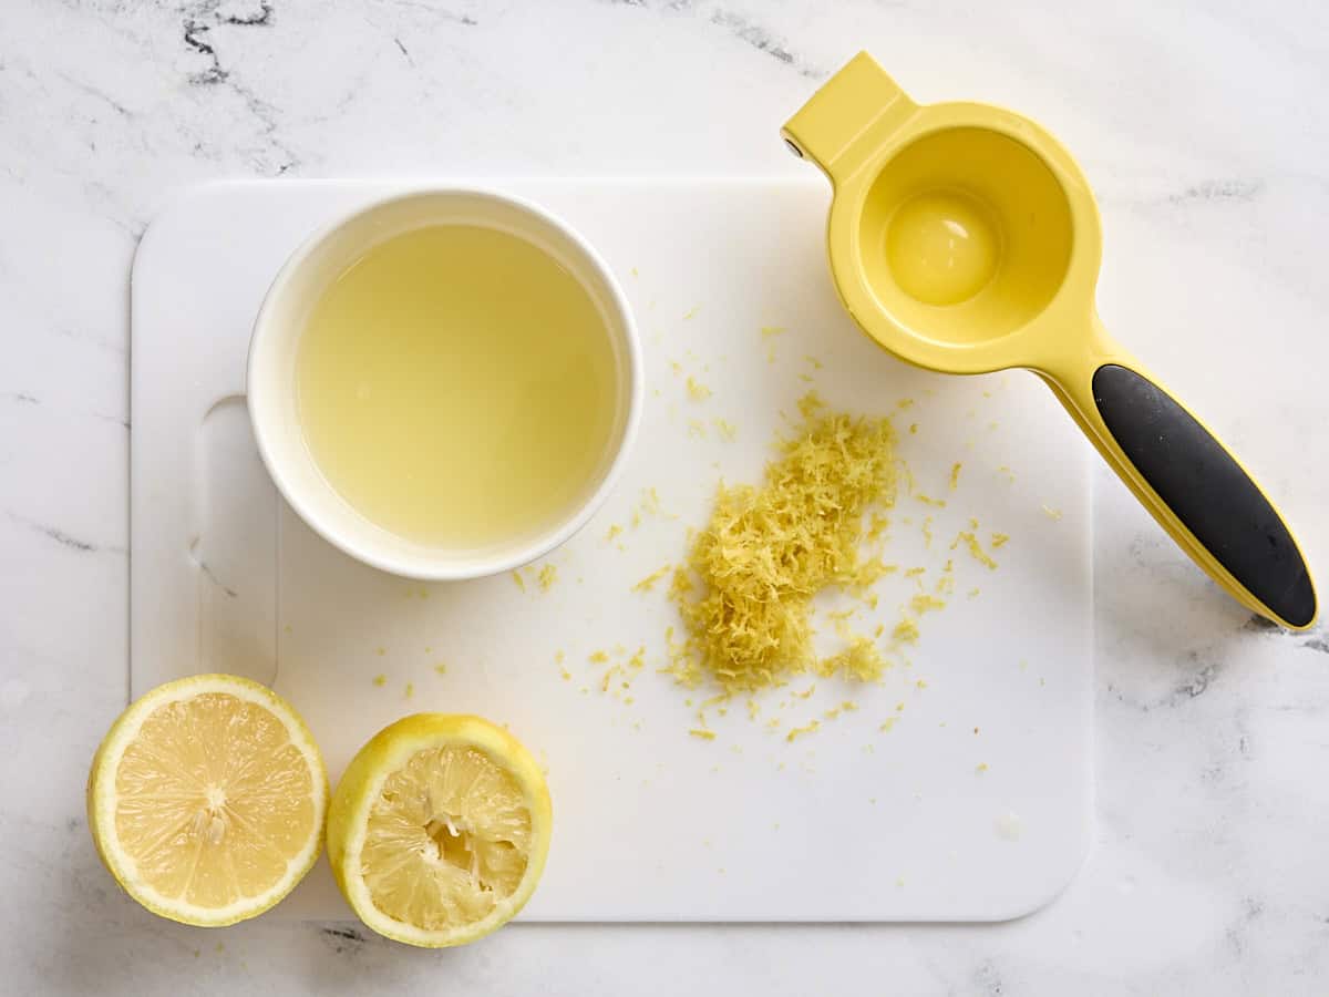
[[[300,427],[295,360],[306,316],[328,284],[371,246],[433,225],[478,225],[517,235],[554,257],[595,300],[618,368],[614,431],[581,497],[549,529],[482,548],[425,546],[376,525],[324,479]],[[637,326],[609,267],[577,233],[521,198],[472,187],[416,189],[358,210],[300,246],[278,273],[254,323],[247,396],[263,464],[315,532],[351,557],[421,580],[477,578],[533,561],[581,529],[605,501],[637,433],[642,360]]]

